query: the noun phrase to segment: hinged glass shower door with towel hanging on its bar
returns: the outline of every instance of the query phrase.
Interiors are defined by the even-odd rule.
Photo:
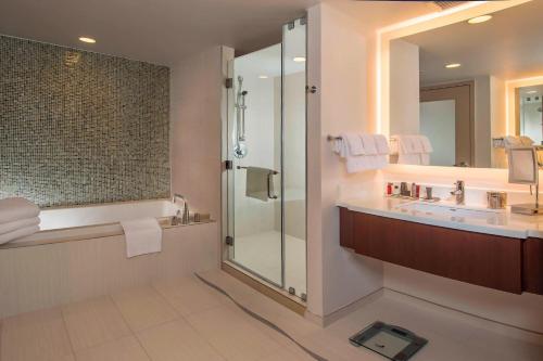
[[[228,259],[282,287],[281,44],[229,67]]]

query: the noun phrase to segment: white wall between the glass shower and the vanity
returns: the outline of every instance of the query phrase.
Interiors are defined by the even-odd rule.
[[[367,129],[366,42],[361,28],[331,5],[308,11],[308,311],[323,317],[382,286],[382,265],[339,245],[342,184],[372,184],[374,172],[348,176],[327,134]],[[364,186],[364,185],[363,185]]]

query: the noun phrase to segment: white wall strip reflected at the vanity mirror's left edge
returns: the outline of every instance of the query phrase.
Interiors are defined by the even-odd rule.
[[[404,40],[390,43],[390,134],[418,134],[419,49]]]

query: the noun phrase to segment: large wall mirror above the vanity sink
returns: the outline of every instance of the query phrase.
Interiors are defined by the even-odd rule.
[[[507,167],[543,142],[543,1],[389,42],[389,133],[426,136],[429,165]]]

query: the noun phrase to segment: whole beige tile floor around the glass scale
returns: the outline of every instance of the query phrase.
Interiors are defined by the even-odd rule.
[[[348,337],[375,320],[430,343],[413,360],[543,360],[543,346],[470,326],[450,313],[383,296],[326,328],[222,271],[202,274],[327,360],[386,360]],[[1,361],[304,361],[294,343],[189,276],[2,320]]]

